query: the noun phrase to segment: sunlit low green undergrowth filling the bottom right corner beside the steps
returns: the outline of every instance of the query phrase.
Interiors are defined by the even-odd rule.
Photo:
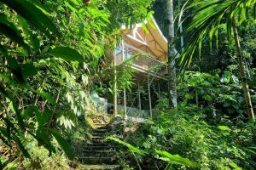
[[[195,106],[183,111],[162,112],[154,124],[144,124],[137,131],[143,133],[140,139],[134,141],[134,136],[126,139],[148,153],[168,150],[169,153],[157,152],[164,156],[160,159],[170,163],[175,161],[166,169],[186,169],[178,164],[189,167],[198,165],[200,169],[255,168],[253,125],[243,122],[232,124],[228,119],[211,125],[204,121],[201,110]],[[187,157],[189,161],[180,156]]]

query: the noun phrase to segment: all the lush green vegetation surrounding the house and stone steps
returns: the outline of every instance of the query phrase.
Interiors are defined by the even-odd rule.
[[[0,0],[0,169],[79,169],[78,148],[94,128],[86,117],[99,114],[91,91],[112,95],[117,82],[121,94],[136,83],[131,65],[113,65],[119,27],[150,20],[154,10],[168,32],[166,3]],[[125,146],[117,153],[119,164],[256,168],[255,6],[255,0],[174,1],[177,38],[169,48],[179,53],[179,65],[172,65],[181,77],[178,109],[170,109],[162,90],[154,95],[159,112],[150,123],[122,120],[107,138]]]

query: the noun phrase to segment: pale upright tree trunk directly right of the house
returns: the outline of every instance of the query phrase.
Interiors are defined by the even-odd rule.
[[[169,65],[169,104],[170,108],[177,109],[177,85],[174,42],[174,20],[173,20],[173,0],[167,0],[167,40],[168,40],[168,65]]]

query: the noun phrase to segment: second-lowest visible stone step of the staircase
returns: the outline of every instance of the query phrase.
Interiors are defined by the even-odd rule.
[[[86,164],[113,164],[116,162],[114,157],[79,157],[79,161]]]

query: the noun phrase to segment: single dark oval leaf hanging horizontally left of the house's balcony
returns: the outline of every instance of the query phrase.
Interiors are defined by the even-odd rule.
[[[59,57],[61,59],[65,59],[67,61],[84,61],[83,55],[79,54],[79,52],[73,48],[68,47],[57,47],[49,51],[50,55],[54,57]]]

